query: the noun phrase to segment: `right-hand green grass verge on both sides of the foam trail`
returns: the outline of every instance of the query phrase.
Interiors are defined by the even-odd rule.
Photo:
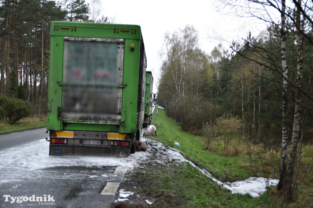
[[[186,159],[206,169],[216,179],[225,182],[240,181],[251,177],[249,168],[243,168],[241,165],[249,163],[248,157],[226,157],[204,150],[200,137],[182,132],[175,120],[168,118],[163,110],[159,110],[158,113],[154,112],[152,124],[156,126],[157,137],[153,135],[147,138],[160,141],[166,147],[179,149]],[[176,146],[175,142],[180,143],[181,147]],[[253,198],[249,195],[231,194],[210,178],[203,176],[190,164],[175,162],[167,165],[146,164],[144,167],[135,169],[126,181],[128,185],[121,185],[121,188],[154,201],[149,207],[302,208],[311,207],[313,204],[310,185],[299,189],[298,194],[301,196],[293,202],[284,202],[277,194],[275,187],[271,187],[269,192],[265,192],[262,196]],[[144,204],[145,202],[141,202],[139,205]]]

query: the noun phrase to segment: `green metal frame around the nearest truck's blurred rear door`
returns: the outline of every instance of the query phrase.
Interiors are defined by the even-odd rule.
[[[48,92],[48,130],[85,130],[136,133],[137,97],[141,52],[141,28],[138,25],[96,24],[85,22],[52,22],[50,27],[50,70]],[[62,70],[64,36],[124,39],[124,75],[122,88],[121,123],[103,124],[101,121],[62,119]],[[134,50],[131,49],[134,44]],[[144,67],[144,72],[146,68]]]

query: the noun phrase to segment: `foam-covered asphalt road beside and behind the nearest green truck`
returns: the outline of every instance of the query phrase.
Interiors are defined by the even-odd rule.
[[[95,159],[49,156],[45,132],[41,128],[0,135],[0,207],[110,207],[118,193],[101,192],[108,183],[124,180],[125,171],[117,170],[120,164],[94,165]],[[30,201],[33,195],[46,197],[47,202]],[[49,197],[54,201],[49,202]]]

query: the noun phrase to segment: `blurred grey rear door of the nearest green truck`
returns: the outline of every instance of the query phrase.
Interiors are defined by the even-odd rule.
[[[124,40],[64,37],[61,117],[121,121]]]

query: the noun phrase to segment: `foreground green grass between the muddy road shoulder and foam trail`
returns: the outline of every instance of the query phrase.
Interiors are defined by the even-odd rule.
[[[158,193],[172,195],[169,207],[269,207],[258,198],[249,195],[231,194],[221,188],[198,169],[190,164],[171,163],[167,166],[147,165],[137,169],[131,177],[142,177],[147,181],[145,186],[136,187],[136,194],[142,193],[149,198],[155,198]],[[130,191],[130,190],[127,190]],[[161,203],[162,202],[162,203]],[[158,201],[153,207],[167,207],[169,204]]]

